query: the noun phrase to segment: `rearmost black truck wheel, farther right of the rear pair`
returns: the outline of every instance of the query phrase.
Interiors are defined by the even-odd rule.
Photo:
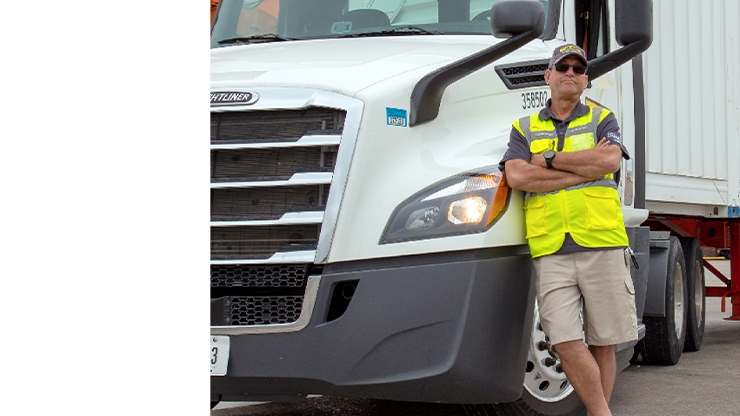
[[[686,260],[686,287],[688,290],[688,311],[686,317],[686,343],[684,351],[699,351],[704,340],[706,319],[706,293],[704,290],[704,256],[696,238],[681,239]]]

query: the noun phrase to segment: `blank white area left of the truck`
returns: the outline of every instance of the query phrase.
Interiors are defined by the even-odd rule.
[[[0,414],[209,411],[209,8],[4,5]]]

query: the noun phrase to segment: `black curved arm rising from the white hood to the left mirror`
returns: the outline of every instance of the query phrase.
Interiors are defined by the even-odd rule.
[[[537,24],[532,30],[513,36],[499,44],[466,56],[425,75],[419,80],[411,93],[409,127],[418,126],[437,118],[442,94],[450,84],[521,48],[541,35],[544,29],[545,14],[540,13]]]

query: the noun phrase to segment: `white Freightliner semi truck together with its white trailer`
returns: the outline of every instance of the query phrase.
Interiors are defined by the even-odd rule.
[[[585,414],[498,166],[564,43],[587,51],[584,100],[615,112],[632,156],[619,193],[641,339],[619,368],[698,350],[705,293],[740,318],[739,16],[733,0],[222,0],[212,403]],[[704,290],[701,246],[730,249],[726,287]]]

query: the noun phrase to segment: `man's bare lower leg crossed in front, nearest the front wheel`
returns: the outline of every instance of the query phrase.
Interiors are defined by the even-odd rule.
[[[578,393],[591,416],[611,416],[604,390],[599,365],[580,341],[566,341],[556,344],[555,351],[560,356],[563,371],[570,384]],[[612,383],[613,386],[613,383]]]

